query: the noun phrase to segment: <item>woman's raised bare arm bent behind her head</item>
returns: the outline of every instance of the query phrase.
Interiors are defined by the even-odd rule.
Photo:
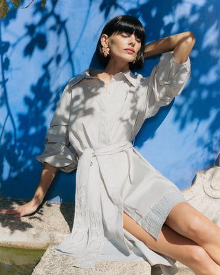
[[[144,57],[163,54],[164,52],[173,51],[173,57],[178,63],[184,63],[195,44],[195,36],[192,32],[181,32],[164,37],[144,47]]]

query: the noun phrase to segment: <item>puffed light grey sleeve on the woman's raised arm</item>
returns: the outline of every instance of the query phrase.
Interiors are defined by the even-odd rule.
[[[168,105],[184,89],[190,76],[190,58],[178,63],[173,52],[162,54],[159,63],[151,72],[146,95],[146,118],[155,115],[160,107]]]

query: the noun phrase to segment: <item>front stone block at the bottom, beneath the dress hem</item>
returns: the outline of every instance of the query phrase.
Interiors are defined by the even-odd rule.
[[[57,244],[50,245],[32,275],[151,275],[151,266],[145,261],[98,261],[92,269],[73,267],[77,259],[54,252]],[[184,265],[177,265],[177,275],[193,275]]]

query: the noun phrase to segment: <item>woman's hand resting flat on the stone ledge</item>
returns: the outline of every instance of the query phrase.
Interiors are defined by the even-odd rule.
[[[28,214],[34,213],[39,207],[33,199],[28,203],[25,203],[23,206],[17,208],[2,209],[1,214],[12,214],[14,218],[21,218]]]

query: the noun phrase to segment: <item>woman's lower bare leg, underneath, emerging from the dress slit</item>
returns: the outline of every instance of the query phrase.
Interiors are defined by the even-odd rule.
[[[188,266],[196,275],[218,275],[220,266],[206,250],[164,225],[159,239],[153,238],[128,214],[124,213],[124,229],[155,252],[169,256]]]

